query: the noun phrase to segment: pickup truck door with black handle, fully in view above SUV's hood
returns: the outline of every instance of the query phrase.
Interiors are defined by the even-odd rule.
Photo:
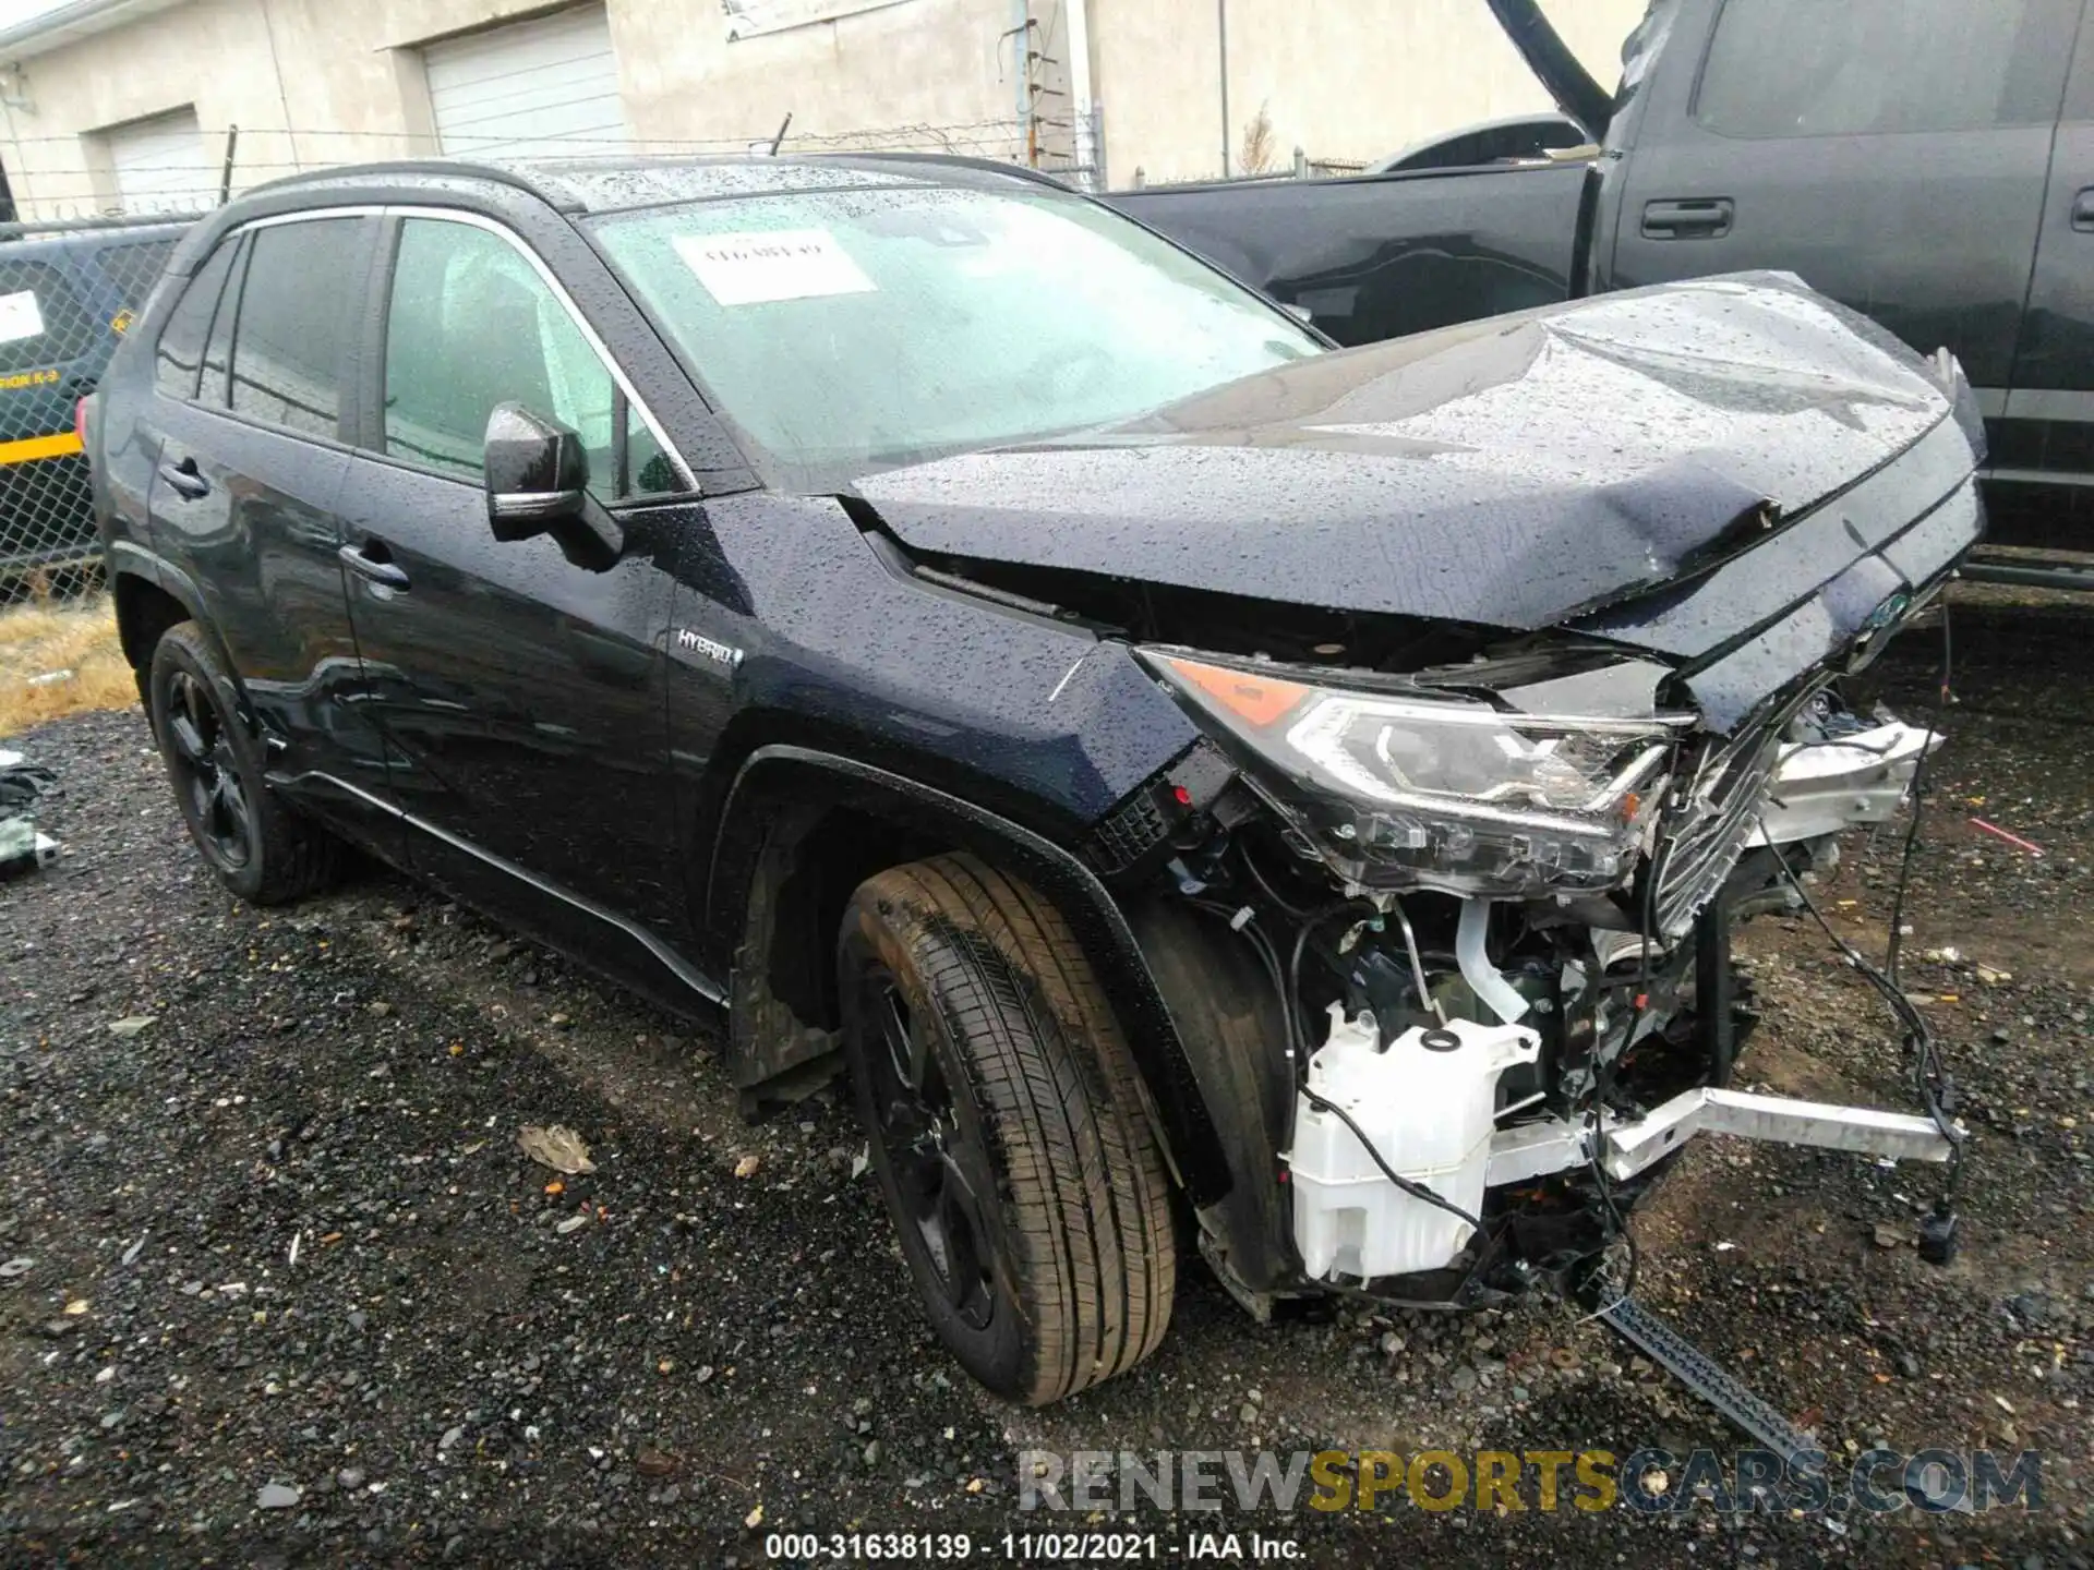
[[[1627,157],[1617,287],[1797,272],[1998,412],[2079,0],[1696,0]],[[1686,23],[1686,17],[1681,19]]]

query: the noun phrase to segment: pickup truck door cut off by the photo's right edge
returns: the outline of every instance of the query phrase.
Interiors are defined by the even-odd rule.
[[[2079,29],[2065,119],[2050,159],[2029,316],[1991,465],[1996,479],[2094,488],[2094,6]],[[2079,528],[2086,523],[2081,515]],[[2084,551],[2094,536],[2079,534],[2058,544]]]

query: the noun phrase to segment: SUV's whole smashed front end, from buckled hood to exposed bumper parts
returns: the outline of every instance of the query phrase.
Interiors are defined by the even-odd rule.
[[[1950,1151],[1939,1109],[1736,1101],[1730,929],[1933,745],[1841,680],[1981,536],[1981,442],[1945,354],[1755,274],[861,484],[919,571],[1131,647],[1204,737],[1089,850],[1246,1304],[1562,1279],[1698,1130]]]

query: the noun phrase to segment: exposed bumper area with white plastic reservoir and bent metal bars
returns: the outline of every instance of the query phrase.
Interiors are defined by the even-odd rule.
[[[1619,906],[1617,925],[1585,929],[1579,919],[1604,921],[1604,906],[1562,900],[1564,925],[1547,934],[1558,959],[1522,963],[1506,955],[1508,906],[1428,896],[1445,909],[1434,944],[1411,932],[1403,911],[1420,904],[1405,896],[1384,902],[1386,923],[1355,923],[1334,944],[1336,963],[1365,980],[1328,1005],[1328,1034],[1300,1040],[1307,1078],[1275,1130],[1292,1214],[1269,1223],[1286,1229],[1290,1262],[1246,1248],[1227,1214],[1202,1216],[1204,1252],[1246,1306],[1265,1315],[1279,1296],[1340,1289],[1466,1308],[1543,1281],[1575,1289],[1656,1168],[1698,1135],[1956,1158],[1962,1130],[1939,1107],[1792,1101],[1728,1082],[1732,923],[1799,909],[1807,881],[1836,865],[1839,837],[1895,818],[1941,741],[1885,714],[1855,718],[1828,695],[1795,705],[1782,737],[1746,777],[1748,810],[1723,806],[1721,791],[1715,806],[1681,808],[1690,825],[1694,810],[1721,812],[1730,850],[1709,852],[1707,892],[1677,929],[1640,936]],[[1374,952],[1397,932],[1401,946]],[[1298,946],[1309,938],[1313,923]],[[1575,952],[1585,959],[1560,959]],[[1399,1007],[1390,971],[1409,982]],[[1326,1116],[1332,1099],[1351,1114],[1342,1130]],[[1449,1225],[1449,1199],[1472,1225]]]

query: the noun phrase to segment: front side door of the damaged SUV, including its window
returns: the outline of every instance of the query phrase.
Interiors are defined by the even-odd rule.
[[[662,990],[687,936],[668,783],[674,540],[620,486],[630,421],[572,306],[507,230],[398,218],[381,419],[343,490],[350,615],[417,871]],[[488,528],[488,412],[574,427],[626,551]],[[626,494],[620,494],[620,492]],[[662,515],[658,515],[662,517]]]

